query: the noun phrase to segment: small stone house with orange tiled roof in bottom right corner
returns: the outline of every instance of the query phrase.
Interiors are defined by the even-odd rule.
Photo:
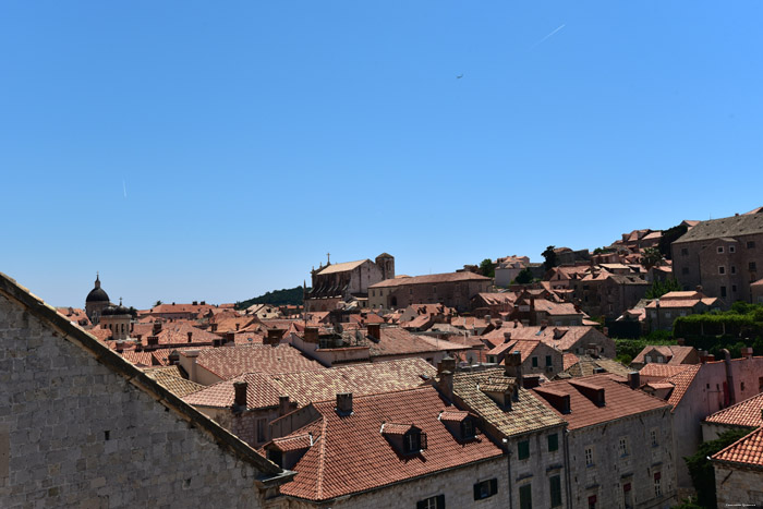
[[[763,506],[763,427],[713,455],[718,507]]]

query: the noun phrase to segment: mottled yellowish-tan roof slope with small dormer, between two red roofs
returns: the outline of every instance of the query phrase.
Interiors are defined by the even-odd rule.
[[[457,373],[453,376],[453,393],[469,409],[488,421],[506,436],[522,435],[553,426],[561,426],[565,421],[549,411],[540,398],[530,390],[519,389],[519,401],[511,403],[511,410],[504,411],[486,393],[480,390],[493,383],[513,378],[505,377],[504,369],[486,369],[480,373]],[[499,384],[498,384],[499,385]]]

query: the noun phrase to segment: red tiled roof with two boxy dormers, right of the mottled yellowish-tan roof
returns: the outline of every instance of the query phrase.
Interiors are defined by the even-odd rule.
[[[604,389],[605,404],[598,407],[589,399],[584,395],[588,388]],[[649,396],[643,391],[633,390],[627,385],[616,381],[608,374],[585,376],[571,380],[549,381],[532,390],[540,395],[544,390],[569,395],[570,413],[562,414],[546,400],[544,400],[544,403],[560,417],[565,419],[570,429],[579,429],[628,415],[669,408],[665,401]]]

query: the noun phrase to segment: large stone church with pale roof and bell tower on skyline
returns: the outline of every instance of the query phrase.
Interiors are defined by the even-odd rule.
[[[374,262],[360,259],[331,264],[329,257],[311,271],[312,288],[305,293],[305,312],[336,310],[342,302],[367,299],[371,284],[395,278],[395,257],[382,253]]]

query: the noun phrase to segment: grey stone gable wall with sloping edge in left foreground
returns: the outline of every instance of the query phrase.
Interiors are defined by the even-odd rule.
[[[280,507],[266,460],[0,274],[0,507]]]

